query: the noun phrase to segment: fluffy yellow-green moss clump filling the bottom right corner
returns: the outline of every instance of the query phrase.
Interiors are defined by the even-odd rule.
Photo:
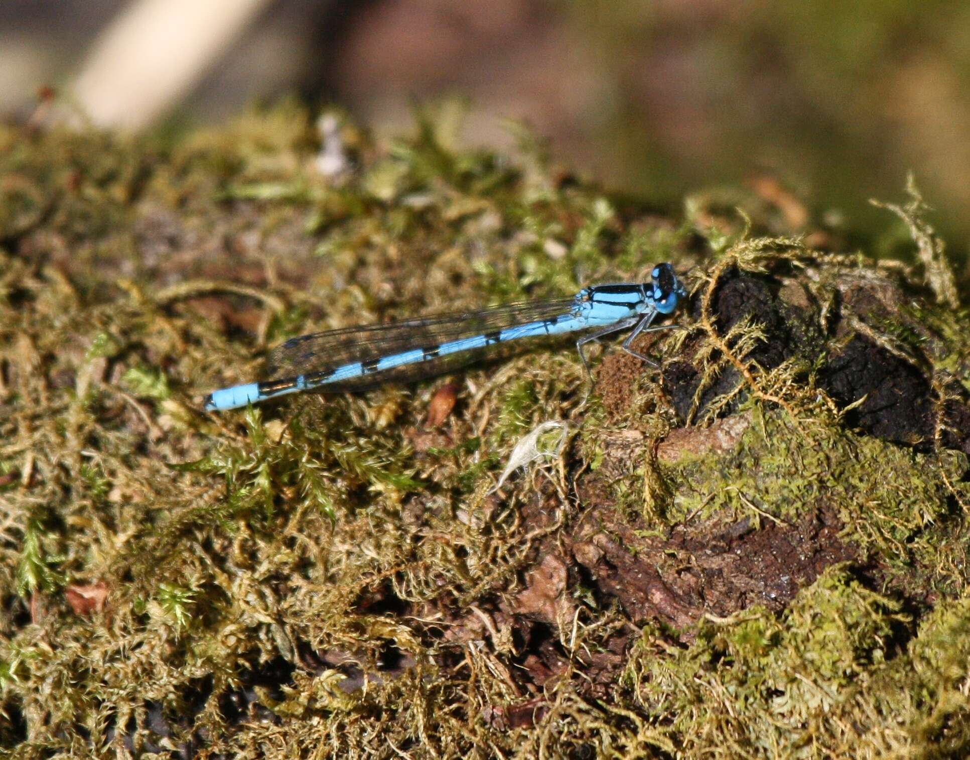
[[[965,596],[905,645],[909,616],[838,566],[781,618],[758,608],[738,618],[703,623],[681,650],[647,632],[630,658],[638,703],[686,754],[928,756],[970,743],[958,693],[970,653]]]

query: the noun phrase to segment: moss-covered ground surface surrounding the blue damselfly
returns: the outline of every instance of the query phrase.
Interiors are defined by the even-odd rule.
[[[5,751],[960,751],[951,291],[457,149],[449,119],[391,145],[346,123],[329,178],[295,105],[164,142],[0,130]],[[689,330],[644,340],[660,372],[605,356],[589,399],[543,346],[200,411],[293,335],[658,260],[693,267]],[[549,420],[559,459],[496,492]]]

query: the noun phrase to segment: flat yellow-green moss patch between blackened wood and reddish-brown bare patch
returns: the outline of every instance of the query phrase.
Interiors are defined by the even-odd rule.
[[[757,524],[763,513],[794,522],[805,512],[833,508],[848,540],[902,570],[941,548],[930,528],[947,518],[953,497],[941,467],[959,479],[966,457],[944,465],[935,454],[844,430],[803,435],[776,414],[764,414],[727,455],[666,469],[675,494],[667,516],[672,522],[690,514],[749,517]]]

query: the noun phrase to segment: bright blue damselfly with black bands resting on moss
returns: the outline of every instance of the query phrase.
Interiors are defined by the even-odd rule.
[[[298,391],[360,390],[381,382],[419,380],[467,360],[472,352],[522,338],[591,330],[576,342],[589,374],[583,346],[609,333],[633,331],[628,353],[651,362],[630,346],[636,336],[676,325],[651,326],[687,295],[673,267],[658,264],[651,282],[584,287],[572,298],[526,302],[466,314],[437,314],[390,324],[348,327],[291,338],[270,357],[270,377],[212,391],[208,411],[237,409]]]

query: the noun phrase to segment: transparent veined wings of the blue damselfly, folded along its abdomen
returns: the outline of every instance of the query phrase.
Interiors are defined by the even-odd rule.
[[[310,333],[291,338],[270,353],[268,379],[278,380],[305,373],[329,372],[344,364],[380,359],[411,348],[436,347],[449,341],[568,314],[574,304],[574,298],[529,301],[475,312],[434,314],[401,322]],[[492,348],[490,352],[494,352],[494,349],[508,349],[509,346],[496,344]],[[447,354],[360,378],[330,382],[319,390],[356,390],[389,381],[429,378],[468,364],[481,356],[484,350]]]

